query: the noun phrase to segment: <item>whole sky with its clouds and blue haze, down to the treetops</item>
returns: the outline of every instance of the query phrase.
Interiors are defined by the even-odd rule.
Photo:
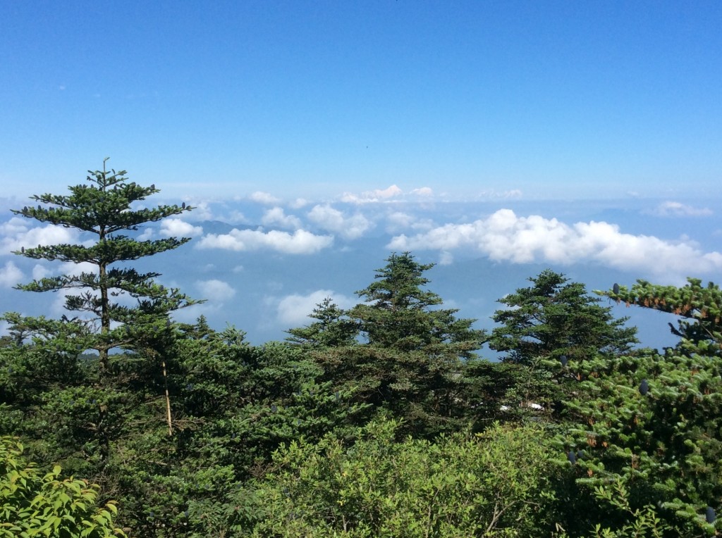
[[[106,156],[197,207],[147,231],[194,238],[162,278],[256,341],[392,250],[484,326],[545,267],[719,281],[721,27],[718,1],[2,2],[0,312],[71,270],[10,250],[83,240],[9,208]]]

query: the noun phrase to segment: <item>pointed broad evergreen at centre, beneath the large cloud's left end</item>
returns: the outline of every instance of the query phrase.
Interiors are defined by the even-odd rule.
[[[474,319],[439,308],[440,296],[424,286],[432,264],[409,252],[392,254],[376,281],[357,291],[365,299],[347,312],[361,343],[313,353],[328,379],[355,392],[362,402],[384,407],[406,420],[414,433],[433,435],[463,415],[463,359],[482,345]]]

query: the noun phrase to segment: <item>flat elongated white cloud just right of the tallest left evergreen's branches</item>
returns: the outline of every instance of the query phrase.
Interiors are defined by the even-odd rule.
[[[239,230],[232,229],[227,234],[208,234],[201,238],[196,248],[219,248],[225,250],[277,250],[284,254],[313,254],[330,247],[334,237],[315,235],[310,231]]]

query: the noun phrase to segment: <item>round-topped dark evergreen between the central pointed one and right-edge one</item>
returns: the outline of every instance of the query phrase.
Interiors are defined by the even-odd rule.
[[[562,420],[563,401],[578,384],[567,363],[625,353],[637,342],[637,329],[625,327],[627,318],[614,319],[611,307],[602,307],[583,283],[561,273],[547,269],[529,281],[532,286],[499,299],[507,308],[492,317],[501,325],[488,345],[506,352],[503,362],[513,367],[505,371],[513,383],[500,399],[501,415]]]

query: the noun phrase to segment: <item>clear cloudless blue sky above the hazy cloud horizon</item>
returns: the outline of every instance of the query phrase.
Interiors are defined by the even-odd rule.
[[[720,1],[0,3],[3,194],[708,198]]]

